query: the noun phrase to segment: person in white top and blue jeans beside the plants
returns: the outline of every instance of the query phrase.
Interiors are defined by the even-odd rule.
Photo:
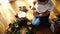
[[[38,28],[37,31],[35,28],[35,34],[49,34],[50,30],[50,23],[49,23],[49,16],[50,12],[52,11],[54,5],[52,0],[37,0],[34,2],[33,12],[34,19],[32,21],[32,25],[35,28]],[[46,32],[47,31],[47,32]],[[42,32],[42,33],[41,33]],[[51,34],[51,33],[50,33]]]

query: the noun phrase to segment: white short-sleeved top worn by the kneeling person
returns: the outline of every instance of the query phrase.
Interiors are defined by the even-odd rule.
[[[48,3],[45,4],[45,5],[41,5],[41,4],[38,4],[38,3],[37,3],[34,7],[36,8],[36,11],[37,11],[38,13],[43,13],[43,12],[45,12],[46,10],[48,10],[48,11],[53,10],[54,5],[53,5],[53,3],[52,3],[52,0],[49,0]]]

